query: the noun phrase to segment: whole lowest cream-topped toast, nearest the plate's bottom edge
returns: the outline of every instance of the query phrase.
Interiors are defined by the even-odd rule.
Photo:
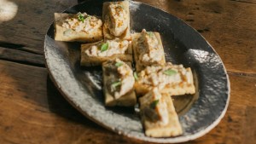
[[[183,133],[170,95],[153,89],[139,101],[142,122],[147,136],[169,137]]]

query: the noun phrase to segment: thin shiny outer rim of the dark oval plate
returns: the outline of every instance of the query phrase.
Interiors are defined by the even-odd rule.
[[[69,7],[68,9],[72,9],[73,7],[75,7],[75,6],[77,6],[77,5],[81,5],[81,4],[84,4],[84,3],[88,3],[88,2],[90,2],[90,1],[91,1],[91,0],[86,0],[86,1],[84,1],[83,3],[78,3],[78,4],[76,4],[76,5],[73,5],[73,6]],[[130,3],[144,4],[144,5],[147,5],[148,7],[153,8],[153,9],[158,9],[158,8],[155,8],[155,7],[152,6],[152,5],[147,4],[147,3],[135,2],[135,1],[131,1]],[[166,12],[165,10],[162,10],[162,9],[158,9],[158,10],[160,10],[160,11],[166,13],[166,14],[170,14],[170,13]],[[65,12],[65,11],[67,11],[67,9],[65,9],[64,11],[62,11],[62,13]],[[205,42],[207,42],[207,39],[206,39],[205,37],[203,37],[200,32],[197,32],[194,27],[190,26],[188,23],[186,23],[184,20],[178,18],[177,16],[175,16],[175,15],[173,15],[173,14],[170,14],[170,15],[172,15],[172,17],[175,17],[177,20],[181,20],[186,26],[189,26],[190,28],[192,28],[197,34],[199,34],[199,36],[200,36],[201,38],[204,39]],[[54,23],[54,21],[51,23],[51,25],[52,25],[53,23]],[[50,29],[50,26],[49,26],[49,29]],[[49,32],[49,29],[47,30],[47,32]],[[192,135],[186,135],[186,136],[182,136],[182,137],[179,137],[179,136],[177,136],[177,137],[167,137],[167,138],[154,138],[154,137],[149,137],[149,136],[145,136],[145,137],[147,137],[147,138],[142,138],[142,137],[139,137],[139,138],[138,138],[138,137],[136,137],[136,136],[134,136],[134,135],[131,135],[131,134],[129,134],[129,133],[128,133],[128,134],[125,134],[125,133],[123,133],[123,132],[120,132],[118,129],[112,129],[112,128],[109,127],[108,125],[105,125],[105,124],[102,124],[101,122],[99,122],[96,118],[90,117],[90,115],[88,115],[87,112],[84,112],[84,110],[82,110],[81,107],[76,106],[76,104],[75,104],[73,101],[71,101],[71,100],[69,99],[69,97],[67,96],[68,94],[66,94],[65,91],[63,91],[62,89],[60,89],[61,86],[60,86],[60,84],[58,84],[58,82],[56,82],[53,73],[50,71],[49,63],[48,63],[49,61],[47,60],[48,57],[47,57],[47,55],[46,55],[46,53],[47,53],[47,49],[46,49],[46,45],[47,45],[47,44],[46,44],[46,42],[47,42],[47,38],[48,38],[48,37],[49,37],[49,36],[48,36],[47,33],[46,33],[46,34],[45,34],[45,37],[44,37],[44,60],[45,60],[45,66],[46,66],[46,68],[47,68],[47,72],[49,73],[49,78],[50,78],[50,79],[52,80],[52,82],[55,84],[56,88],[61,92],[61,95],[63,95],[63,97],[64,97],[73,107],[75,107],[77,110],[79,110],[79,112],[81,112],[86,118],[89,118],[89,119],[92,120],[94,123],[101,125],[102,127],[106,128],[107,130],[112,130],[112,131],[118,133],[119,135],[125,135],[126,137],[129,137],[129,138],[132,138],[132,139],[135,139],[135,140],[148,141],[148,142],[156,142],[156,143],[170,143],[170,142],[172,142],[172,143],[179,143],[179,142],[185,142],[185,141],[195,140],[196,138],[199,138],[199,137],[201,137],[202,135],[206,135],[210,130],[212,130],[214,127],[216,127],[216,126],[219,124],[219,122],[221,121],[221,119],[224,118],[224,115],[225,115],[225,113],[226,113],[226,111],[227,111],[227,109],[228,109],[228,107],[229,107],[229,103],[230,103],[230,78],[229,78],[229,75],[228,75],[227,70],[226,70],[226,68],[225,68],[225,66],[224,66],[223,60],[220,58],[220,56],[218,55],[218,53],[216,52],[216,50],[212,47],[212,45],[207,42],[207,44],[208,44],[208,45],[211,47],[211,49],[213,50],[214,54],[218,56],[218,60],[220,60],[221,65],[223,66],[224,75],[225,75],[225,77],[226,77],[226,82],[227,82],[227,85],[226,85],[226,87],[227,87],[227,100],[226,100],[226,102],[225,102],[225,107],[224,107],[223,111],[221,112],[221,114],[218,116],[218,118],[215,119],[212,124],[208,125],[204,130],[200,130],[200,131],[198,131],[198,132],[196,132],[195,134],[192,134]],[[148,138],[150,139],[150,141],[149,141]]]

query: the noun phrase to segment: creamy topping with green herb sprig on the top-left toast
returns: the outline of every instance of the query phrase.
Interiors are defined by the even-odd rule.
[[[72,29],[75,32],[92,32],[102,26],[102,20],[86,13],[70,14],[63,21],[62,27]]]

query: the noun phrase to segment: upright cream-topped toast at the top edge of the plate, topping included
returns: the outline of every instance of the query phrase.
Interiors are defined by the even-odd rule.
[[[129,1],[103,3],[102,20],[105,39],[131,40]]]

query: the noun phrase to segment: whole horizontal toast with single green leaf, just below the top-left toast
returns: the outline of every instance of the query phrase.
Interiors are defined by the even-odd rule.
[[[81,44],[81,66],[99,66],[102,62],[118,58],[132,61],[131,43],[126,40],[107,40]]]

